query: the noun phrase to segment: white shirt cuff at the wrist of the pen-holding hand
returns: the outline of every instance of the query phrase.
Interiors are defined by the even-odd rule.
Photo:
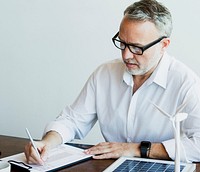
[[[73,139],[72,134],[70,134],[72,132],[67,130],[64,125],[62,125],[61,123],[57,123],[56,121],[53,121],[53,122],[50,122],[49,124],[47,124],[47,126],[45,127],[45,130],[44,130],[44,135],[49,131],[55,131],[58,134],[60,134],[60,136],[62,138],[62,143],[69,142]]]

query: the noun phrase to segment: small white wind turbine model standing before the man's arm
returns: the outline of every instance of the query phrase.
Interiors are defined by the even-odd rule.
[[[187,113],[180,113],[180,111],[185,107],[186,103],[182,104],[174,115],[169,115],[167,112],[162,110],[159,106],[151,102],[156,109],[158,109],[164,116],[172,121],[175,137],[175,172],[180,172],[180,122],[185,120],[188,116]]]

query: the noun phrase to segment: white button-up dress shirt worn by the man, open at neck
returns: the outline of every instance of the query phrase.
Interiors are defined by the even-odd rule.
[[[200,79],[184,64],[164,54],[156,70],[133,94],[133,78],[122,60],[98,67],[76,101],[46,127],[57,131],[63,142],[83,138],[98,120],[108,142],[162,142],[175,159],[175,139],[171,121],[150,101],[174,115],[182,112],[181,161],[200,161]]]

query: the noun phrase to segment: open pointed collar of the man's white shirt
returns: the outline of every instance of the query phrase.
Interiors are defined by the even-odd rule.
[[[165,89],[167,85],[169,66],[170,56],[167,53],[164,53],[157,68],[154,70],[151,77],[146,81],[146,84],[149,85],[154,82]],[[128,73],[126,68],[124,70],[123,80],[127,85],[133,86],[133,77],[131,74]]]

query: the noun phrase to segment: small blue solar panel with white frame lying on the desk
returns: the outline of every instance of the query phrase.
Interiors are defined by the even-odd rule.
[[[104,172],[174,172],[173,161],[162,161],[145,158],[121,157],[112,163]],[[193,172],[195,164],[181,163],[181,172]]]

